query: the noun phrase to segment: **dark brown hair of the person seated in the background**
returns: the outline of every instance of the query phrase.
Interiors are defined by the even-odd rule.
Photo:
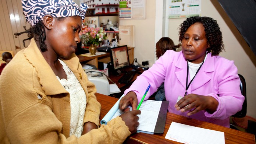
[[[156,45],[160,48],[162,51],[162,54],[164,54],[167,50],[174,50],[176,51],[176,48],[179,48],[181,45],[174,45],[174,42],[169,37],[162,37]]]

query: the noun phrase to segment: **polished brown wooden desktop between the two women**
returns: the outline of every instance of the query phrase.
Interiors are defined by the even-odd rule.
[[[117,98],[105,96],[103,94],[96,93],[97,101],[102,105],[102,109],[100,111],[100,120],[109,112],[109,110],[113,107],[115,102],[117,102]],[[166,133],[172,122],[182,123],[185,125],[202,127],[205,129],[217,130],[220,132],[224,132],[225,134],[225,143],[226,144],[255,144],[255,137],[253,134],[245,133],[242,131],[230,129],[227,127],[215,125],[208,122],[203,122],[200,120],[195,120],[191,118],[187,118],[184,116],[172,114],[167,112],[166,118],[166,126],[164,128],[163,134],[146,134],[146,133],[135,133],[132,136],[129,136],[124,143],[129,144],[181,144],[176,141],[171,141],[165,139]]]

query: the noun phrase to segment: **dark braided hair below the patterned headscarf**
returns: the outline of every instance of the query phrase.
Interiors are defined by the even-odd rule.
[[[58,21],[62,21],[65,17],[59,17],[56,18]],[[45,44],[45,40],[46,40],[46,33],[45,33],[45,28],[43,25],[42,21],[38,21],[38,23],[36,23],[35,26],[31,26],[28,30],[26,29],[26,26],[24,26],[25,31],[24,32],[20,32],[20,33],[14,33],[15,37],[23,34],[23,33],[28,33],[29,38],[24,39],[23,43],[24,43],[24,47],[25,46],[25,42],[26,40],[30,40],[33,37],[35,37],[35,40],[39,42],[39,46],[42,52],[47,51],[47,45]]]

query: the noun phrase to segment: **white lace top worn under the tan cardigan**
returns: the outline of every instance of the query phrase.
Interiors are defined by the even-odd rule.
[[[81,84],[75,77],[74,73],[62,60],[58,59],[63,65],[63,69],[67,75],[66,79],[57,76],[62,86],[70,93],[71,119],[70,119],[70,136],[80,137],[83,131],[83,117],[85,115],[86,95]]]

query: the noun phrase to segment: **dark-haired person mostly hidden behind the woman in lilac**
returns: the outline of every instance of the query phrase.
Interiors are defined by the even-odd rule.
[[[162,37],[157,43],[156,43],[156,57],[159,59],[167,50],[174,50],[176,51],[176,48],[179,48],[181,45],[174,45],[174,42],[169,37]],[[165,93],[164,93],[164,82],[161,84],[161,86],[157,89],[156,93],[153,95],[155,100],[157,101],[165,101]]]

